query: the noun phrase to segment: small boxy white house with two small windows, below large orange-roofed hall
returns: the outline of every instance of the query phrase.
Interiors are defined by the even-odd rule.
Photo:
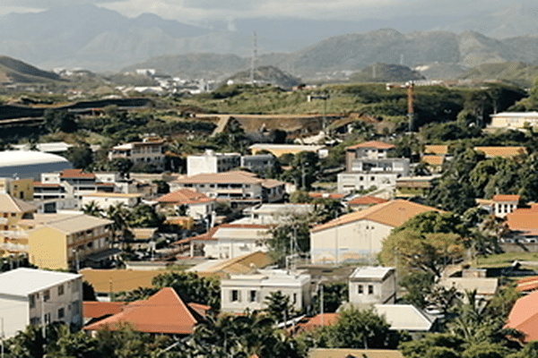
[[[396,270],[384,267],[359,267],[349,281],[350,303],[395,303]]]

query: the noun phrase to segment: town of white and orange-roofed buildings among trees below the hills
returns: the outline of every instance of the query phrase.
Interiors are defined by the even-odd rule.
[[[2,142],[3,354],[534,356],[538,115],[513,108],[538,102],[499,91],[515,99],[490,117],[404,104],[399,124],[327,98],[314,115],[31,107],[2,124],[48,133]]]

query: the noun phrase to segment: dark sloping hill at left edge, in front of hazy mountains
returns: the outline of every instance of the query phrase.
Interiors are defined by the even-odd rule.
[[[60,81],[60,77],[53,72],[39,70],[30,64],[15,60],[12,57],[0,56],[0,82],[43,82]]]

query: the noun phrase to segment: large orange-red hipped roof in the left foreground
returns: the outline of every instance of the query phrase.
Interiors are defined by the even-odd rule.
[[[147,300],[129,303],[123,311],[82,329],[115,330],[122,323],[130,324],[139,332],[188,335],[193,333],[198,321],[176,291],[164,287]]]

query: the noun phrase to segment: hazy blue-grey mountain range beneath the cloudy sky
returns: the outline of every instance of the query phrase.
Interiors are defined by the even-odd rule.
[[[182,77],[222,78],[249,68],[256,30],[256,66],[273,65],[302,78],[346,77],[377,63],[419,66],[430,75],[436,68],[450,77],[480,64],[534,64],[537,14],[538,9],[515,5],[474,17],[243,19],[230,30],[218,21],[203,27],[74,4],[0,16],[0,54],[45,69],[155,68]]]

